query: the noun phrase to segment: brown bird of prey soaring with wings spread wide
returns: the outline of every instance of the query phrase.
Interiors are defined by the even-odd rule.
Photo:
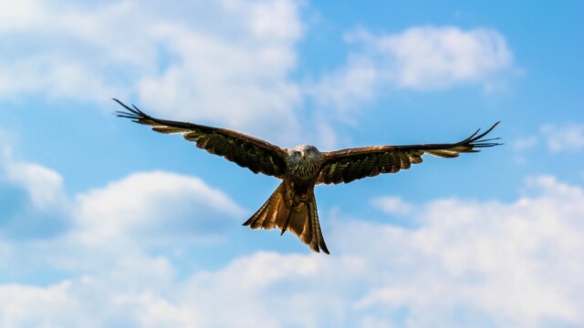
[[[495,142],[498,138],[485,138],[499,124],[496,122],[481,134],[478,129],[470,137],[450,144],[370,146],[323,152],[308,144],[280,148],[226,128],[152,118],[133,105],[130,108],[116,98],[113,100],[125,108],[116,112],[121,118],[149,125],[154,131],[181,133],[200,149],[222,156],[254,173],[282,179],[266,203],[244,225],[251,229],[278,228],[281,234],[292,231],[313,251],[327,254],[327,244],[318,223],[315,185],[349,183],[381,173],[395,173],[421,163],[424,154],[455,158],[460,153],[500,145]]]

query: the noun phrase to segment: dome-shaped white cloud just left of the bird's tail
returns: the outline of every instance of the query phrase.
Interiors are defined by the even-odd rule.
[[[135,173],[78,195],[77,209],[78,233],[89,243],[129,236],[213,239],[244,212],[201,179],[162,171]]]

